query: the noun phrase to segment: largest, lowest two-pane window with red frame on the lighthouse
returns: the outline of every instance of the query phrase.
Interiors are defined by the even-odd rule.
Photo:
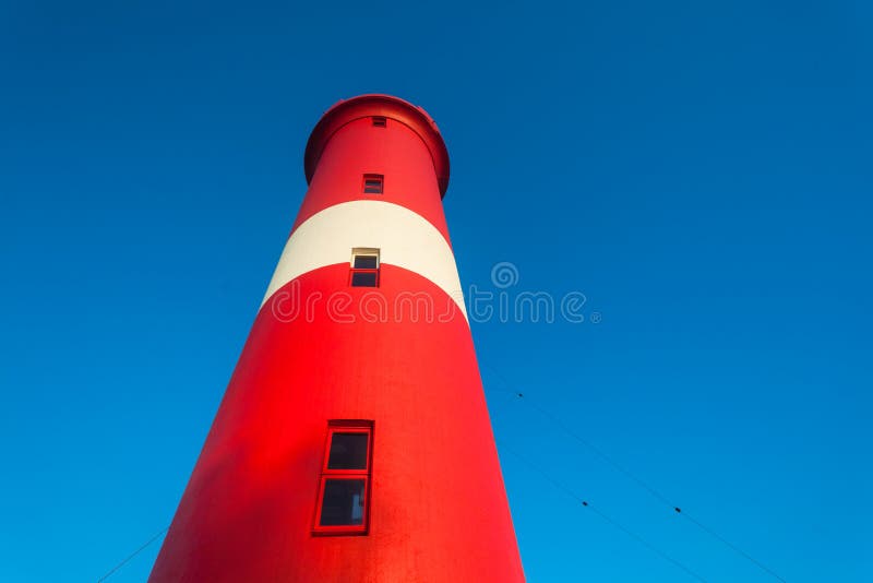
[[[314,534],[367,534],[373,421],[327,423]]]

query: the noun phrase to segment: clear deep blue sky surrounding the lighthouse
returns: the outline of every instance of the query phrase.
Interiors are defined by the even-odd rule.
[[[0,580],[168,524],[342,97],[426,107],[465,284],[599,324],[481,360],[791,582],[873,573],[865,2],[0,3]],[[707,581],[773,581],[483,368],[501,444]],[[501,451],[531,582],[692,581]],[[157,545],[110,582],[142,581]]]

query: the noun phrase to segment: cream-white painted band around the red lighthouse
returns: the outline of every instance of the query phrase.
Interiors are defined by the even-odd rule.
[[[263,305],[288,282],[319,267],[348,263],[354,248],[380,250],[380,262],[430,279],[464,318],[464,294],[452,248],[419,214],[384,201],[350,201],[315,213],[295,229],[267,286]]]

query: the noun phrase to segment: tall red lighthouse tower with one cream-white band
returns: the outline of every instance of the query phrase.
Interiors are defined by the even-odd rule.
[[[419,107],[339,102],[150,581],[524,581]]]

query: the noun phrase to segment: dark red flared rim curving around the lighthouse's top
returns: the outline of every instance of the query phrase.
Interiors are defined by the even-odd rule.
[[[449,188],[449,151],[436,122],[422,108],[392,95],[369,94],[340,99],[325,111],[307,142],[303,156],[307,182],[312,180],[324,146],[339,128],[356,119],[374,116],[396,120],[421,138],[433,159],[440,194],[445,195],[445,190]]]

